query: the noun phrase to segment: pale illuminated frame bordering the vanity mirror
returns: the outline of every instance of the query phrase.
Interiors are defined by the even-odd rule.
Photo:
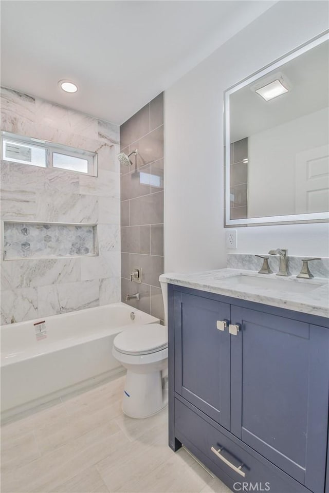
[[[329,30],[322,32],[312,40],[307,41],[303,45],[299,46],[293,51],[283,55],[262,69],[249,75],[249,77],[234,84],[224,91],[224,145],[225,147],[225,161],[224,161],[224,227],[239,227],[239,226],[264,226],[270,224],[298,224],[298,223],[310,223],[310,222],[327,222],[329,221],[328,212],[318,213],[305,213],[305,214],[290,214],[286,216],[267,216],[267,217],[250,217],[244,219],[230,219],[230,173],[226,173],[226,163],[230,166],[230,95],[233,92],[245,87],[246,85],[257,81],[272,70],[276,70],[283,64],[294,60],[297,56],[305,53],[306,51],[324,43],[329,40]],[[248,193],[248,192],[247,192]]]

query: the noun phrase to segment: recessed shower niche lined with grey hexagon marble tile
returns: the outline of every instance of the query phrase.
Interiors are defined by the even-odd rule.
[[[98,255],[97,226],[4,222],[4,260]]]

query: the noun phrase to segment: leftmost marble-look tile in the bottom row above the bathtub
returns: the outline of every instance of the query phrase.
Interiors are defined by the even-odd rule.
[[[36,288],[20,288],[1,293],[1,324],[21,322],[38,316]]]

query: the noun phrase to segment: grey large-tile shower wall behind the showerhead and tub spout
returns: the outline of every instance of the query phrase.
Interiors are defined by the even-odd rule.
[[[120,126],[121,150],[132,166],[121,166],[122,301],[163,319],[159,275],[163,273],[163,93]],[[142,268],[142,283],[130,281]]]

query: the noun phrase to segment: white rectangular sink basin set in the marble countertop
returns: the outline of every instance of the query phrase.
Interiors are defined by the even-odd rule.
[[[275,289],[284,292],[309,293],[314,289],[324,286],[325,282],[312,280],[299,281],[296,279],[278,279],[277,277],[256,277],[239,274],[223,279],[223,285],[235,289],[248,286],[249,288]]]

